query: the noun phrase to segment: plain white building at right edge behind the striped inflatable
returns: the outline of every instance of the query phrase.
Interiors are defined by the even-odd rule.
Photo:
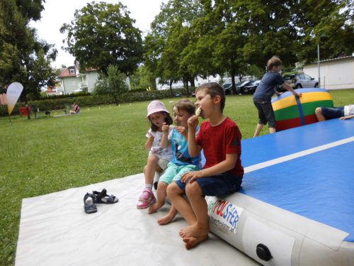
[[[304,65],[311,77],[320,75],[320,87],[325,89],[354,89],[354,55],[323,60]]]

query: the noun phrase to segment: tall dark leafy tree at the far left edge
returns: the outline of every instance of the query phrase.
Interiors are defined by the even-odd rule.
[[[50,63],[55,60],[54,45],[39,40],[35,29],[28,23],[40,19],[43,0],[0,1],[0,87],[11,82],[21,82],[21,99],[40,96],[40,88],[53,84],[55,70]]]

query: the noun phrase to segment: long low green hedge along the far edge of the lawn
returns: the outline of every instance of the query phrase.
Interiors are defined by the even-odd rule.
[[[181,94],[182,96],[187,96],[187,91],[183,89],[173,89],[173,96]],[[151,101],[154,99],[164,99],[170,98],[171,91],[169,89],[159,90],[159,91],[130,91],[125,92],[120,95],[119,104],[131,103],[134,101]],[[67,98],[62,97],[50,97],[49,99],[42,99],[40,101],[28,101],[28,104],[33,107],[33,109],[40,109],[40,111],[47,110],[64,110],[67,106],[72,106],[76,102],[79,106],[97,106],[103,104],[115,104],[115,100],[110,95],[84,95],[76,96],[70,95]],[[20,114],[20,107],[25,106],[25,103],[17,103],[13,109],[11,115]],[[0,116],[7,116],[7,106],[0,106]]]

